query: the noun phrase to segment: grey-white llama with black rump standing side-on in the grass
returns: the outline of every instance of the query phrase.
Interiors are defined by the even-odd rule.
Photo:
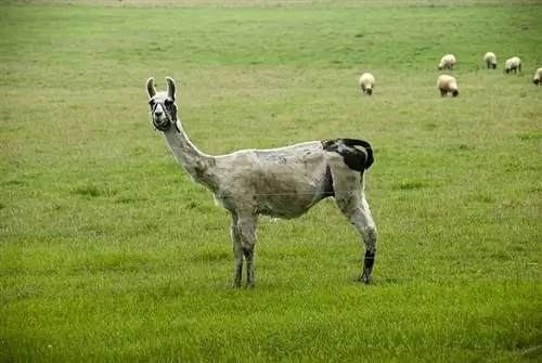
[[[377,230],[364,195],[364,171],[373,164],[364,140],[309,141],[268,150],[240,150],[225,155],[201,152],[183,131],[176,104],[177,86],[166,77],[167,91],[156,91],[149,78],[152,122],[192,180],[203,184],[231,213],[230,237],[235,268],[233,286],[255,286],[255,245],[259,216],[297,218],[320,200],[334,197],[365,244],[358,281],[369,283],[376,256]],[[362,146],[357,148],[356,146]]]

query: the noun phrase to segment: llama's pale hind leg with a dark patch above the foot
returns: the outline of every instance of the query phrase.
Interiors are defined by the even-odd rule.
[[[361,275],[358,280],[369,284],[371,274],[373,273],[373,265],[376,258],[376,242],[378,238],[376,224],[371,216],[369,203],[363,195],[357,195],[346,199],[337,198],[337,205],[363,237],[365,257],[363,259]]]

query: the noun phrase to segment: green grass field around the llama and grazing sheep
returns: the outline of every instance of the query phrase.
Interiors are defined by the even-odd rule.
[[[0,362],[542,361],[540,1],[74,3],[0,3]],[[326,199],[262,219],[232,289],[228,213],[153,130],[150,76],[207,153],[369,140],[374,284]]]

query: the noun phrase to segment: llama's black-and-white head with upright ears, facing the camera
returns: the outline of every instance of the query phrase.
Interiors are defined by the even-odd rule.
[[[177,104],[175,102],[177,86],[170,77],[166,77],[166,82],[168,85],[167,91],[157,92],[154,87],[154,78],[151,77],[146,80],[151,117],[154,127],[160,131],[169,130],[172,125],[177,126]]]

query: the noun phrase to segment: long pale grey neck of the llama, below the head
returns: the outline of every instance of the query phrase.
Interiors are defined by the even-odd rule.
[[[164,137],[177,158],[177,163],[192,177],[192,179],[209,190],[215,191],[218,186],[217,178],[212,171],[215,157],[197,150],[182,129],[179,120],[177,127],[170,127],[164,131]]]

